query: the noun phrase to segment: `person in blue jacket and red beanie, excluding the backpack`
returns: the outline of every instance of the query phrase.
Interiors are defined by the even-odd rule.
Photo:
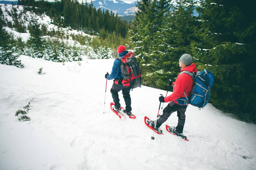
[[[126,50],[125,46],[123,46],[123,45],[118,46],[119,58],[122,58],[123,56],[126,56],[127,53],[128,53],[128,51]],[[112,67],[111,74],[106,73],[105,78],[108,79],[108,80],[114,79],[113,86],[110,90],[110,92],[112,94],[114,104],[115,104],[113,109],[117,112],[121,110],[121,105],[119,103],[120,100],[119,100],[119,97],[118,97],[118,92],[122,90],[123,99],[125,99],[125,105],[126,105],[126,108],[123,110],[123,112],[130,115],[131,114],[131,97],[130,97],[131,88],[130,87],[125,87],[122,84],[123,75],[121,73],[120,60],[119,59],[115,59],[113,67]]]

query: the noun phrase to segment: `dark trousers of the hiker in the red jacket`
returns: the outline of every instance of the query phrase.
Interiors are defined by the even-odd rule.
[[[187,105],[179,105],[174,101],[171,101],[166,108],[163,110],[163,115],[160,116],[158,121],[156,122],[156,128],[159,128],[165,121],[167,121],[168,117],[171,116],[172,113],[177,111],[178,124],[176,126],[176,131],[179,133],[183,133],[183,128],[185,124],[185,111],[187,110]]]

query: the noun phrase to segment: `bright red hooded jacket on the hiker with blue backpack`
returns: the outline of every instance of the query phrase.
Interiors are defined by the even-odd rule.
[[[191,73],[194,73],[194,72],[196,73],[197,69],[196,69],[195,63],[192,63],[187,67],[181,68],[180,72],[182,71],[189,71]],[[176,82],[172,83],[172,86],[174,86],[174,91],[170,96],[165,97],[164,101],[165,102],[174,101],[175,103],[177,103],[177,101],[175,100],[179,99],[180,97],[185,97],[184,92],[187,96],[190,95],[190,92],[193,88],[193,79],[188,74],[179,74],[177,76]]]

